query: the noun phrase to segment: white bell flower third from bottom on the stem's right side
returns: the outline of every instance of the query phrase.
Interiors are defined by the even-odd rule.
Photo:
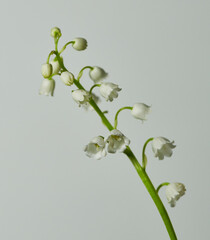
[[[147,115],[150,113],[151,107],[144,103],[135,103],[131,110],[133,117],[143,121],[147,120]]]

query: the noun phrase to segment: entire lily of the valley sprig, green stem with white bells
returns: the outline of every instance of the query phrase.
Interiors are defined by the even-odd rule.
[[[139,177],[153,199],[166,226],[170,239],[177,239],[168,213],[159,197],[159,190],[165,186],[166,199],[170,206],[174,207],[180,197],[185,194],[185,186],[184,184],[178,182],[164,182],[159,184],[159,186],[155,189],[146,172],[148,161],[146,149],[148,144],[151,144],[154,157],[159,160],[163,160],[165,157],[168,158],[172,156],[173,149],[175,148],[174,141],[170,141],[165,137],[150,137],[146,140],[143,146],[141,152],[142,164],[140,164],[130,148],[130,139],[118,129],[118,118],[121,111],[129,110],[131,117],[144,122],[150,117],[151,106],[142,102],[137,102],[132,106],[122,107],[116,112],[113,124],[111,124],[105,115],[108,111],[102,111],[97,104],[101,101],[101,99],[104,99],[107,102],[113,102],[120,94],[121,88],[117,83],[106,81],[108,74],[99,66],[85,66],[77,74],[77,77],[75,77],[76,74],[73,74],[71,70],[68,70],[65,67],[61,54],[69,45],[77,51],[85,50],[87,48],[86,39],[81,37],[74,38],[72,41],[68,41],[59,50],[58,42],[62,36],[60,29],[57,27],[52,28],[51,36],[54,39],[55,49],[50,51],[46,62],[41,66],[41,73],[44,79],[41,83],[39,93],[41,95],[53,96],[55,89],[54,78],[58,76],[58,81],[61,81],[64,85],[66,85],[66,87],[70,87],[69,92],[78,106],[82,107],[81,109],[95,110],[109,132],[106,136],[101,136],[100,133],[96,131],[95,137],[93,137],[84,147],[85,154],[96,160],[105,159],[107,154],[125,154],[135,167]],[[89,71],[90,83],[93,83],[90,88],[85,88],[80,82],[84,71]],[[73,88],[73,86],[76,86],[76,89]],[[96,92],[99,93],[99,96]],[[100,97],[102,98],[100,99]]]

